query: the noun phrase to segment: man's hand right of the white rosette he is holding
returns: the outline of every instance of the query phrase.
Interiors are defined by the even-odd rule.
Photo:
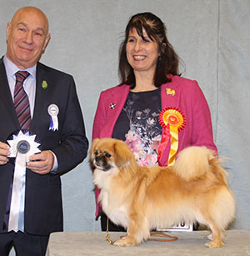
[[[52,170],[53,164],[54,156],[50,151],[46,150],[30,156],[27,168],[34,173],[47,174]]]

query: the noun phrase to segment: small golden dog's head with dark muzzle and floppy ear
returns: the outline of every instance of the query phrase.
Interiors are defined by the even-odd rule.
[[[95,168],[104,172],[122,168],[134,159],[126,143],[115,138],[96,138],[92,142],[90,161]]]

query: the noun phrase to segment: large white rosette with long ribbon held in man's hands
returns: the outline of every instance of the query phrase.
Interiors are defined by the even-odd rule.
[[[36,135],[30,135],[29,132],[23,134],[20,131],[18,135],[13,135],[12,140],[7,140],[11,147],[9,157],[16,158],[8,231],[23,230],[26,163],[32,154],[40,152],[40,143],[35,142],[35,138]]]

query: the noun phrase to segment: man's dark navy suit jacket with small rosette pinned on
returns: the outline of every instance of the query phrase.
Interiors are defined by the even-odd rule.
[[[42,88],[42,81],[47,88]],[[27,169],[24,228],[27,233],[47,235],[62,231],[62,193],[60,173],[80,163],[87,155],[87,138],[72,76],[37,63],[37,88],[30,130],[41,141],[42,150],[57,156],[57,173],[40,175]],[[59,108],[58,131],[49,131],[47,107]],[[3,60],[0,59],[0,141],[20,129],[13,107]],[[0,165],[0,233],[13,178],[13,163]]]

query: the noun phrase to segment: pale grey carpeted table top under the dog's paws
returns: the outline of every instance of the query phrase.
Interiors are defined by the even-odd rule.
[[[113,241],[125,233],[110,232]],[[208,231],[171,232],[173,242],[148,241],[135,247],[117,247],[107,242],[105,232],[58,232],[49,238],[46,256],[82,255],[247,255],[250,256],[250,229],[228,230],[222,248],[207,248]]]

